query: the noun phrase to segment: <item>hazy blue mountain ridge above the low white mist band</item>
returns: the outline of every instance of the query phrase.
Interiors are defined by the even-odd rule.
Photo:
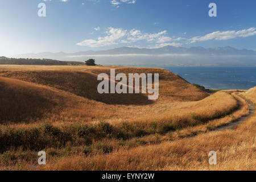
[[[63,56],[80,56],[80,55],[121,55],[121,54],[148,54],[148,55],[160,55],[160,54],[193,54],[193,55],[256,55],[256,51],[248,49],[236,49],[233,47],[215,47],[215,48],[203,48],[203,47],[174,47],[165,46],[161,48],[135,48],[135,47],[119,47],[114,49],[102,50],[102,51],[80,51],[75,53],[65,52],[40,52],[40,53],[25,53],[16,55],[15,57],[31,57],[31,58],[51,58],[63,57]]]

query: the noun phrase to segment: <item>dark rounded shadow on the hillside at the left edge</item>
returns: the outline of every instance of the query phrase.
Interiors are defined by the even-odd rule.
[[[42,118],[56,103],[41,93],[42,89],[38,87],[0,77],[0,123]]]

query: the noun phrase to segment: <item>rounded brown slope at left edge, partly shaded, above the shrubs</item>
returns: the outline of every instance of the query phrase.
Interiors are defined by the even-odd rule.
[[[5,77],[0,77],[0,95],[0,123],[71,121],[72,117],[87,120],[95,118],[104,105],[48,86]],[[94,107],[94,112],[90,107]]]

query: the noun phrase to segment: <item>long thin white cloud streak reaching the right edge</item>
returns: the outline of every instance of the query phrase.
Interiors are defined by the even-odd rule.
[[[246,38],[248,36],[256,35],[256,28],[251,27],[240,31],[216,31],[205,36],[195,36],[189,39],[189,43],[201,42],[206,40],[228,40],[234,38]]]

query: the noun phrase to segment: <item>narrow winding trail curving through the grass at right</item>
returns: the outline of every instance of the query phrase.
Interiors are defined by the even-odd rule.
[[[244,98],[242,98],[242,99],[245,100]],[[219,126],[219,127],[217,127],[216,129],[214,129],[214,131],[221,131],[221,130],[226,130],[226,129],[233,129],[235,126],[239,125],[239,124],[242,123],[242,122],[245,122],[246,119],[250,118],[251,115],[253,115],[254,112],[255,112],[255,107],[254,107],[254,105],[253,105],[250,101],[247,101],[247,100],[245,100],[245,101],[247,102],[247,104],[250,105],[249,114],[246,114],[246,115],[244,115],[243,117],[236,119],[235,121],[232,121],[232,122],[230,122],[230,123],[227,123],[227,124],[224,125],[224,126]]]

